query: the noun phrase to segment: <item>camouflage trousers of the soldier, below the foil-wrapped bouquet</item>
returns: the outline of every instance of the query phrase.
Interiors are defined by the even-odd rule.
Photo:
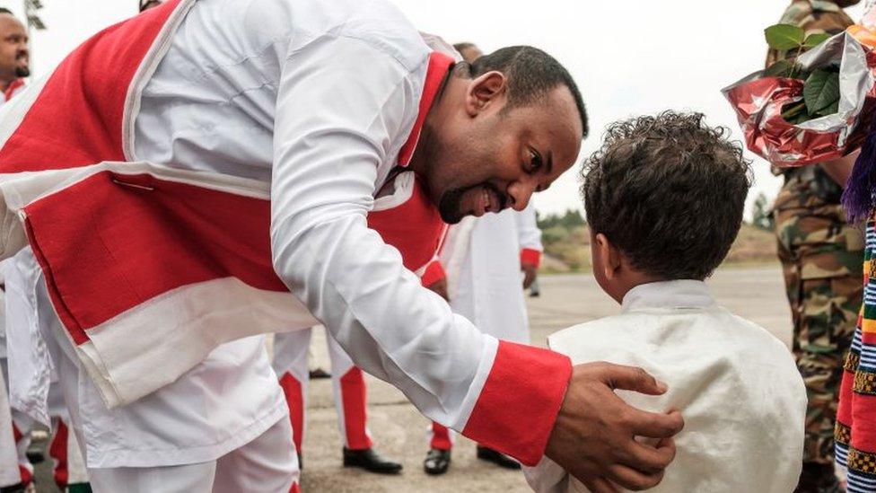
[[[862,303],[863,233],[840,206],[775,211],[793,315],[793,354],[809,407],[804,462],[833,462],[839,386]]]

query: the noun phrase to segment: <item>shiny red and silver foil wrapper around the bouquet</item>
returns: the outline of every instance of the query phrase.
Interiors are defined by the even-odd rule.
[[[792,125],[782,118],[784,105],[802,101],[803,81],[755,72],[723,90],[749,150],[781,167],[820,163],[849,154],[863,143],[876,109],[876,56],[847,33],[825,41],[798,58],[811,71],[840,67],[839,110],[833,115]]]

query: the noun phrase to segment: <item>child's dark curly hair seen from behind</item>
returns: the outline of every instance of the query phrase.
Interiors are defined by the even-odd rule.
[[[620,121],[584,164],[591,232],[650,276],[709,277],[739,233],[750,163],[727,128],[703,119],[666,111]]]

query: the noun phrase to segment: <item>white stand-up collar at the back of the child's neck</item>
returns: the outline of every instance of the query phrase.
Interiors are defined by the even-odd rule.
[[[635,286],[626,292],[621,310],[626,313],[648,308],[706,308],[714,305],[705,282],[681,279]]]

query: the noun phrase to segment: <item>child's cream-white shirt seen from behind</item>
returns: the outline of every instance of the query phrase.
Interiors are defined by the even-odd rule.
[[[669,385],[661,396],[618,391],[639,409],[679,409],[678,453],[652,491],[787,493],[800,476],[806,390],[791,352],[758,325],[714,303],[693,280],[636,286],[622,313],[548,338],[575,365],[641,366]],[[588,491],[547,457],[525,468],[539,492]]]

